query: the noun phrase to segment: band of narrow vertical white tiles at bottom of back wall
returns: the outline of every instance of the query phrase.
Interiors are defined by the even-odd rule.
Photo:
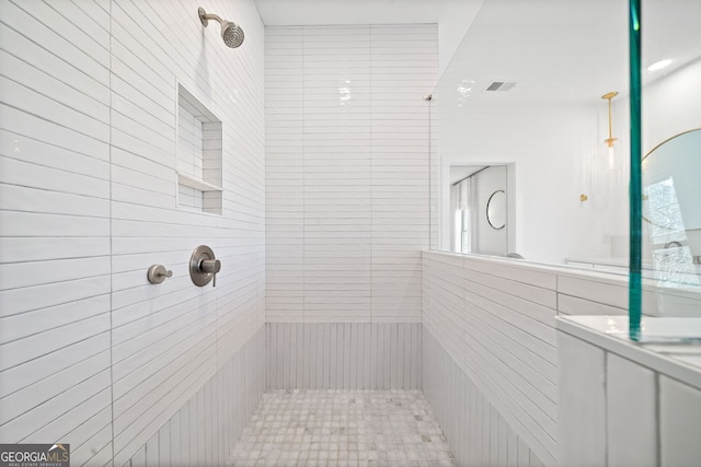
[[[267,389],[421,389],[421,323],[267,323]]]

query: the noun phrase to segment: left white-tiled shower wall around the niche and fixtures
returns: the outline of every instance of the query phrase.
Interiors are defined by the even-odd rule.
[[[208,5],[245,30],[229,49],[198,5],[0,3],[2,443],[123,465],[263,325],[263,25]],[[176,209],[177,81],[223,120],[221,217]],[[188,277],[199,244],[216,289]]]

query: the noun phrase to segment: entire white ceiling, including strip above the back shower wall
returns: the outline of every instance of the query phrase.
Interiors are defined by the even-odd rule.
[[[489,94],[490,105],[597,103],[609,91],[628,94],[625,0],[254,1],[266,25],[437,23],[440,86],[473,102]],[[701,0],[645,0],[643,13],[643,66],[674,60],[645,72],[646,82],[699,59]],[[484,94],[492,81],[516,86]]]

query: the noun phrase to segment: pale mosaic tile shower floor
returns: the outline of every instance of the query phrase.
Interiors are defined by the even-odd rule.
[[[229,466],[457,466],[421,390],[266,393]]]

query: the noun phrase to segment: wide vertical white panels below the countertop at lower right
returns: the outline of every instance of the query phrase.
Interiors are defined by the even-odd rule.
[[[558,325],[562,465],[699,464],[701,377],[693,346],[631,345],[598,329]]]

